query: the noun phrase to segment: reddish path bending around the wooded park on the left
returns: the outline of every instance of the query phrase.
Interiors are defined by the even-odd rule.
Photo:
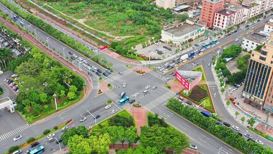
[[[23,38],[25,38],[26,40],[28,40],[29,42],[31,42],[33,45],[35,45],[37,48],[39,48],[41,51],[43,51],[44,53],[50,55],[51,57],[53,57],[55,60],[61,62],[63,65],[65,65],[67,68],[69,68],[70,70],[76,72],[77,74],[79,74],[86,82],[86,92],[85,92],[85,96],[83,99],[81,99],[78,103],[73,104],[65,109],[62,109],[61,111],[57,111],[56,113],[50,115],[47,118],[44,118],[42,120],[39,120],[37,122],[35,122],[32,125],[36,125],[39,123],[42,123],[44,121],[47,121],[53,117],[55,117],[56,115],[70,109],[73,108],[74,106],[82,103],[86,97],[88,96],[88,94],[90,93],[90,91],[92,90],[92,81],[90,81],[89,76],[83,72],[82,70],[79,70],[78,67],[74,66],[73,64],[71,64],[70,62],[68,62],[67,60],[63,59],[62,57],[60,57],[59,55],[57,55],[56,53],[50,51],[48,48],[44,47],[42,44],[40,44],[37,40],[35,40],[35,38],[28,34],[28,33],[24,33],[21,29],[15,27],[13,24],[7,22],[4,18],[0,17],[0,22],[2,22],[3,24],[5,24],[6,26],[8,26],[9,28],[11,28],[14,32],[18,33],[20,36],[22,36]]]

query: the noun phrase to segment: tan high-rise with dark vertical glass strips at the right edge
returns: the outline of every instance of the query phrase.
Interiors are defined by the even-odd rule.
[[[244,102],[263,109],[272,105],[273,37],[251,54],[242,96]],[[266,102],[266,103],[265,103]],[[270,107],[269,107],[270,106]]]

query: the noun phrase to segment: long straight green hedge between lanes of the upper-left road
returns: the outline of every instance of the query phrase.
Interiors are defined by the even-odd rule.
[[[7,0],[0,0],[0,2],[4,4],[6,7],[8,7],[10,10],[12,10],[14,13],[18,14],[19,16],[33,24],[34,26],[47,32],[48,34],[55,37],[57,40],[63,42],[64,44],[68,45],[69,47],[78,51],[79,53],[85,55],[86,57],[92,58],[93,61],[99,63],[103,67],[110,68],[113,65],[112,63],[107,62],[104,56],[96,55],[93,50],[89,50],[81,43],[76,42],[73,38],[54,28],[50,24],[44,22],[42,19],[20,10]]]

